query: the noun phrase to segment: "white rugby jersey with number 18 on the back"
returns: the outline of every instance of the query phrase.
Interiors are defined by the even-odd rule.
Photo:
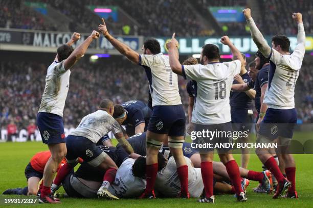
[[[207,65],[183,65],[183,75],[197,83],[197,101],[191,122],[218,124],[230,122],[229,96],[233,79],[240,72],[239,60]]]

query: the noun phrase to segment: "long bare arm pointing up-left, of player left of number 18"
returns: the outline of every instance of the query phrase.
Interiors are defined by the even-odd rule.
[[[117,39],[115,39],[114,37],[112,37],[107,29],[106,29],[106,25],[104,22],[104,19],[102,18],[102,24],[99,25],[99,33],[102,33],[103,36],[125,57],[127,57],[127,59],[129,59],[129,61],[135,63],[135,64],[139,64],[139,54],[135,51],[132,50],[130,47],[128,47],[126,44],[118,41]]]

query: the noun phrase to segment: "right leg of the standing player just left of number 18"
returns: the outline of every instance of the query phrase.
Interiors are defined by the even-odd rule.
[[[168,137],[168,146],[175,159],[177,174],[181,181],[181,197],[190,198],[188,192],[188,166],[183,153],[184,137]]]

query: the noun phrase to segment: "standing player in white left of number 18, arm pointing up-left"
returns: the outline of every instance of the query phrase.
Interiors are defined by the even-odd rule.
[[[167,56],[161,53],[156,39],[147,39],[142,47],[143,55],[112,37],[103,24],[99,32],[131,62],[145,68],[152,96],[153,112],[147,128],[147,186],[140,198],[155,198],[154,183],[158,172],[158,151],[163,141],[168,140],[175,158],[181,181],[181,197],[189,198],[188,166],[183,156],[182,146],[185,135],[185,112],[178,92],[177,75],[172,72]]]

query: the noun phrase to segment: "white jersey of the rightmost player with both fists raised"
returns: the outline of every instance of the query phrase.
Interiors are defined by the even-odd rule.
[[[303,33],[301,35],[305,36],[304,29],[299,31],[299,33],[301,32]],[[299,43],[291,55],[282,55],[271,48],[269,84],[264,96],[267,107],[273,109],[295,108],[295,86],[304,53],[304,43]]]

